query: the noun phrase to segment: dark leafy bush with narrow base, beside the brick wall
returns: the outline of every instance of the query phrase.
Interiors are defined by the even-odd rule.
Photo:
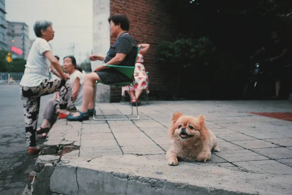
[[[209,61],[216,47],[208,37],[199,39],[179,36],[175,40],[163,40],[157,44],[158,61],[167,70],[167,83],[173,99],[180,96],[183,69],[201,66]]]

